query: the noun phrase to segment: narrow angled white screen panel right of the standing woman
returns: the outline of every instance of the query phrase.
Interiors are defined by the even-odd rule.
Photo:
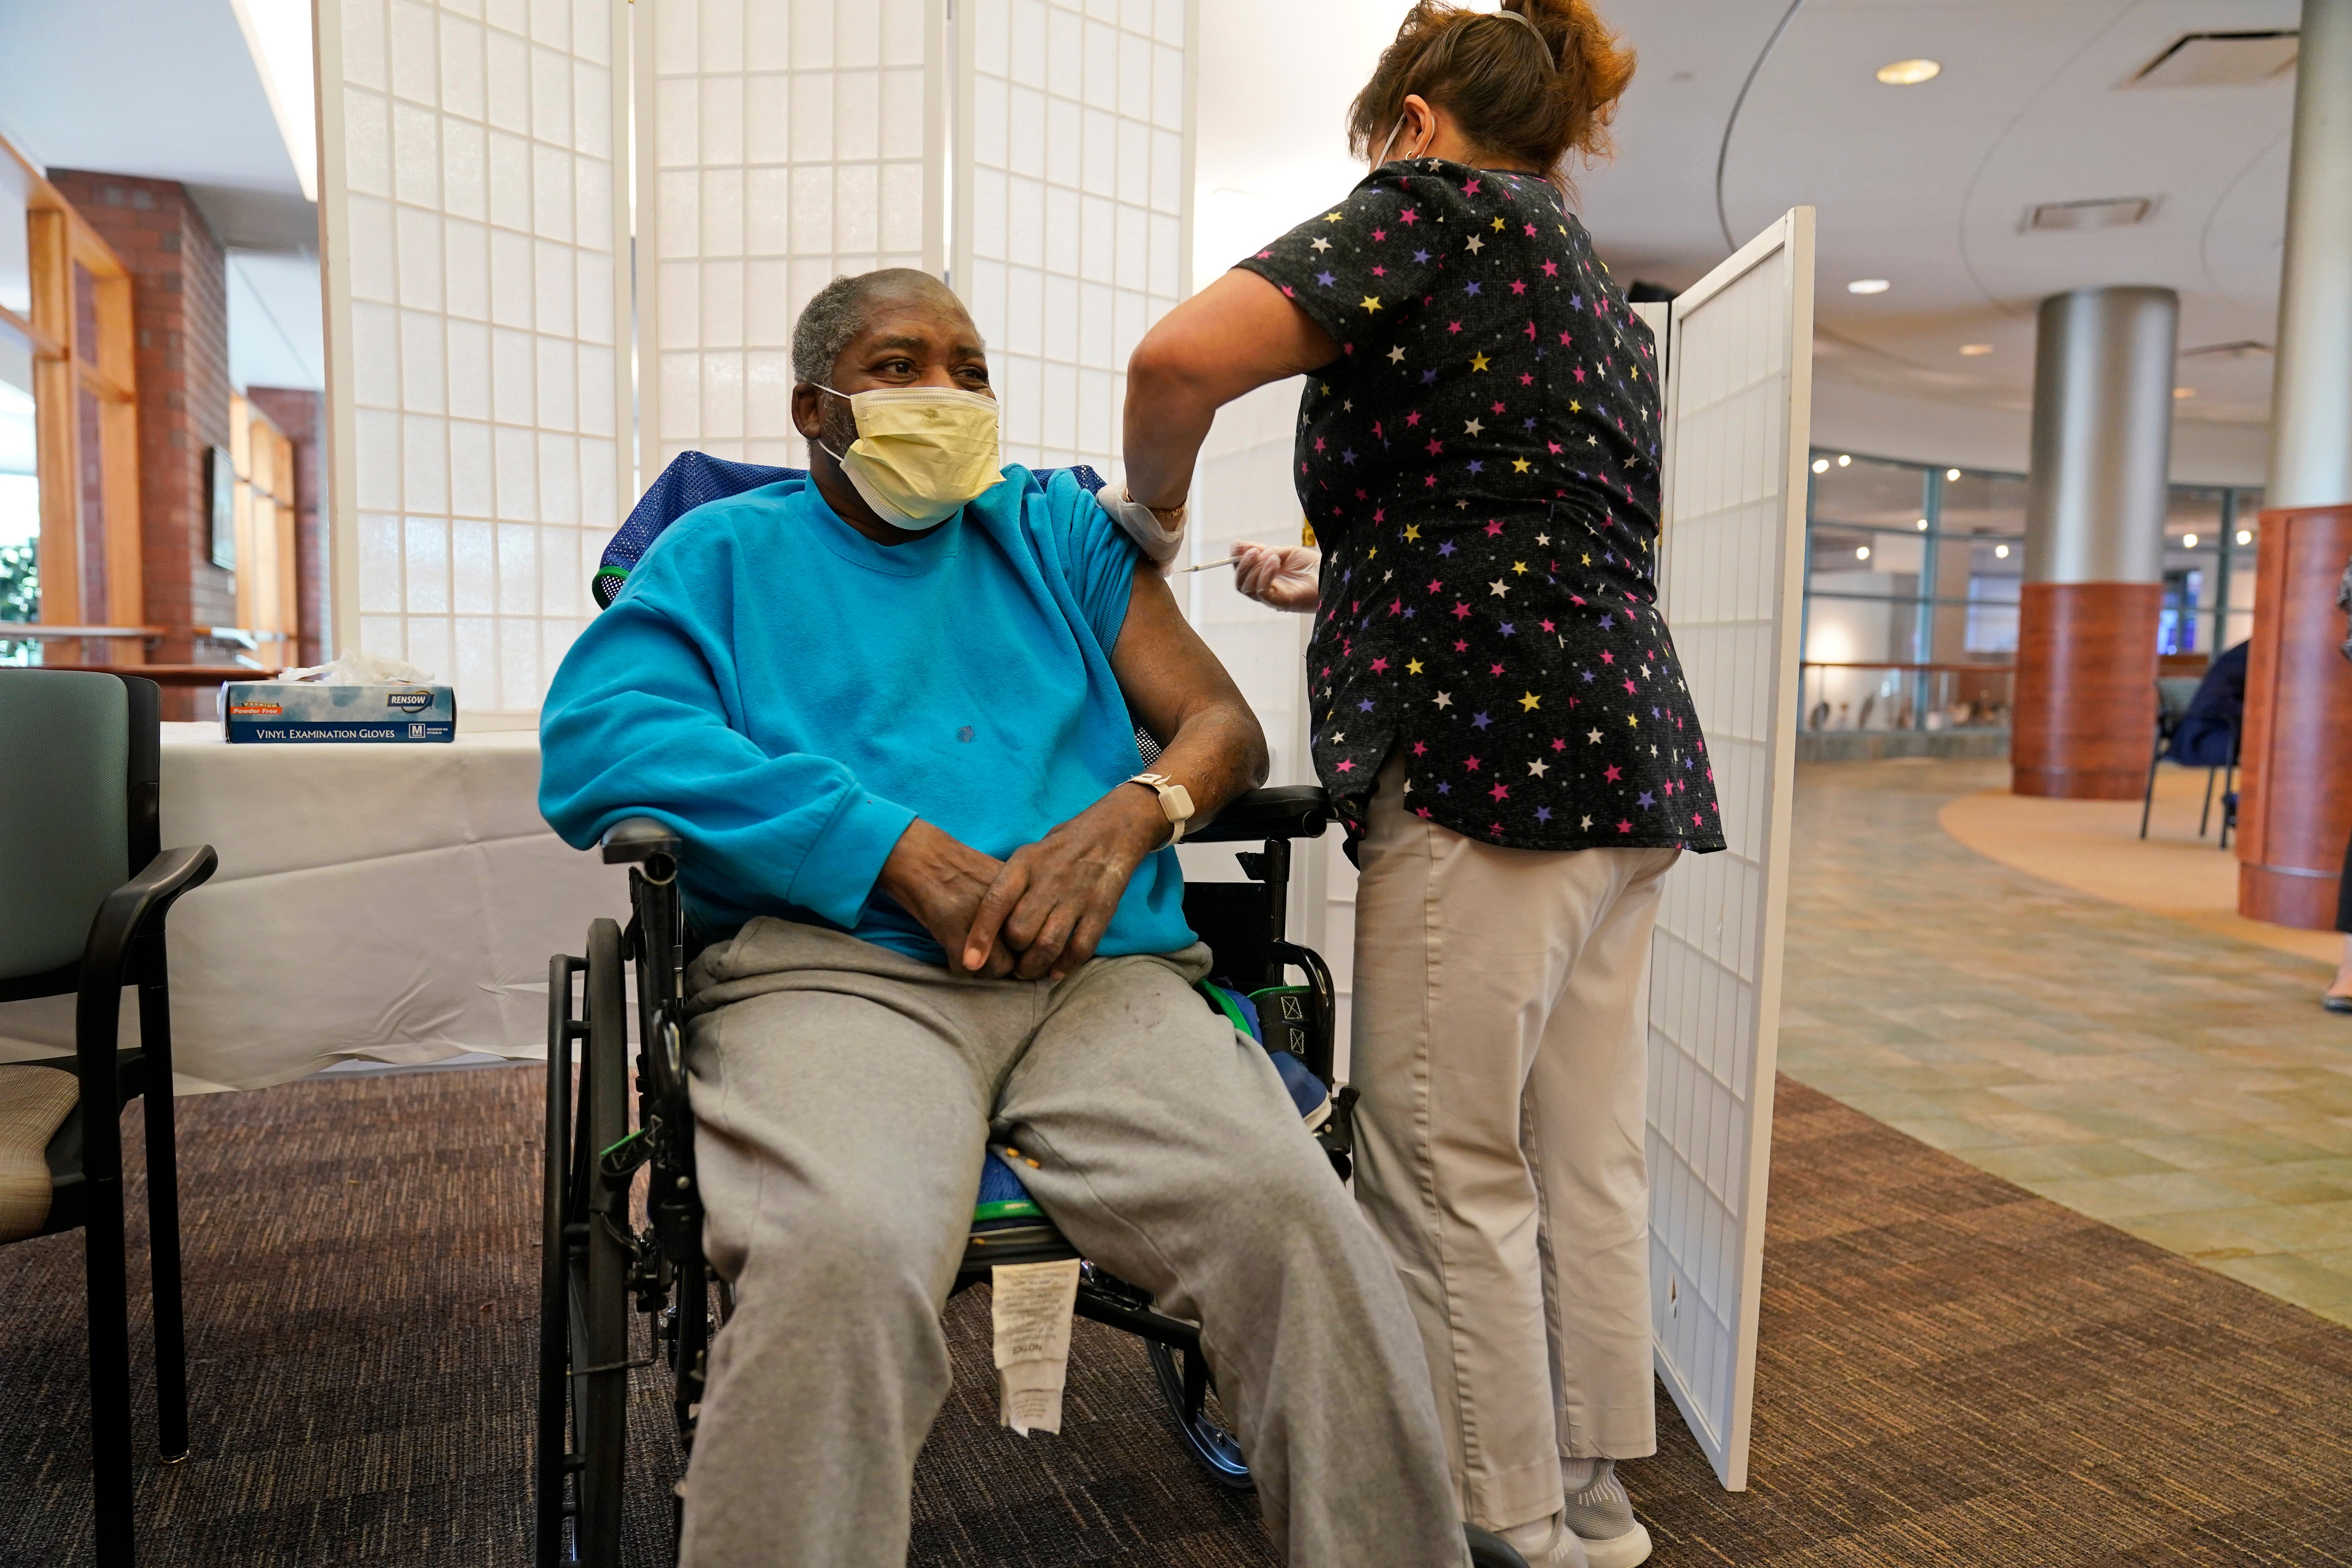
[[[1651,945],[1651,1328],[1658,1373],[1748,1486],[1788,905],[1811,418],[1813,214],[1672,303],[1661,607],[1729,849],[1684,856]],[[1656,317],[1653,317],[1656,320]]]

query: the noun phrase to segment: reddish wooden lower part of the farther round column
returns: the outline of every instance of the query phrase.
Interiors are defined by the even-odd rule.
[[[2157,724],[2157,583],[2025,583],[2011,790],[2138,799]]]

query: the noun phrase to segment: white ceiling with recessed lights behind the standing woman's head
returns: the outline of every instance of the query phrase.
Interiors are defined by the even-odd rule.
[[[1362,174],[1345,158],[1345,106],[1404,12],[1402,0],[1202,0],[1197,280]],[[1724,223],[1745,240],[1813,205],[1823,442],[1929,461],[1966,447],[1976,463],[2023,468],[2034,303],[2074,287],[2178,289],[2183,350],[2274,334],[2293,73],[2258,87],[2124,82],[2183,33],[2293,28],[2293,0],[1799,0],[1792,12],[1604,0],[1604,12],[1642,61],[1616,158],[1576,176],[1602,254],[1621,277],[1682,287],[1729,254]],[[1919,87],[1875,80],[1912,56],[1943,73]],[[2157,197],[2154,214],[2023,230],[2039,202],[2112,195]],[[1853,277],[1893,287],[1853,296]],[[2267,353],[2183,357],[2176,381],[2194,397],[2176,404],[2176,477],[2260,480],[2270,371]]]

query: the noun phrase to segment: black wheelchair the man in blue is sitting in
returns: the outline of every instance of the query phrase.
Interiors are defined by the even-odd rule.
[[[1261,1044],[1301,1093],[1301,1072],[1327,1093],[1310,1119],[1334,1171],[1352,1154],[1355,1091],[1331,1093],[1331,971],[1287,938],[1291,842],[1329,825],[1317,788],[1256,790],[1225,806],[1192,844],[1249,842],[1249,882],[1185,884],[1185,919],[1216,954],[1223,994],[1209,1004]],[[614,1568],[621,1554],[628,1378],[661,1366],[670,1415],[691,1455],[710,1335],[731,1307],[727,1281],[703,1258],[701,1194],[694,1173],[694,1114],[684,1074],[684,971],[701,950],[677,896],[682,839],[652,818],[616,823],[602,839],[609,865],[628,865],[630,922],[588,926],[586,957],[548,961],[548,1126],[546,1237],[539,1321],[536,1563]],[[628,966],[637,994],[628,997]],[[1289,971],[1305,976],[1291,983]],[[579,994],[576,994],[579,992]],[[1247,999],[1247,1006],[1244,1006]],[[630,1011],[635,1009],[635,1077]],[[579,1086],[574,1088],[574,1048]],[[1282,1058],[1291,1060],[1284,1063]],[[640,1180],[642,1178],[642,1180]],[[988,1197],[988,1185],[983,1194]],[[976,1220],[950,1291],[988,1279],[1000,1262],[1077,1258],[1033,1204],[976,1204]],[[642,1215],[642,1220],[640,1220]],[[628,1314],[652,1319],[652,1354],[633,1359]],[[1251,1488],[1240,1443],[1207,1408],[1214,1392],[1200,1328],[1152,1309],[1143,1291],[1082,1262],[1077,1314],[1141,1335],[1160,1396],[1192,1458],[1218,1483]],[[673,1552],[684,1502],[673,1497]]]

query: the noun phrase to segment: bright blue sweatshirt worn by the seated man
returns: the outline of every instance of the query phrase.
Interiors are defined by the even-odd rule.
[[[903,545],[807,480],[701,505],[555,672],[539,811],[579,849],[670,823],[706,929],[781,914],[946,964],[875,877],[917,816],[1002,858],[1143,766],[1110,675],[1136,559],[1070,475],[1016,465]],[[1162,849],[1096,952],[1190,940]]]

